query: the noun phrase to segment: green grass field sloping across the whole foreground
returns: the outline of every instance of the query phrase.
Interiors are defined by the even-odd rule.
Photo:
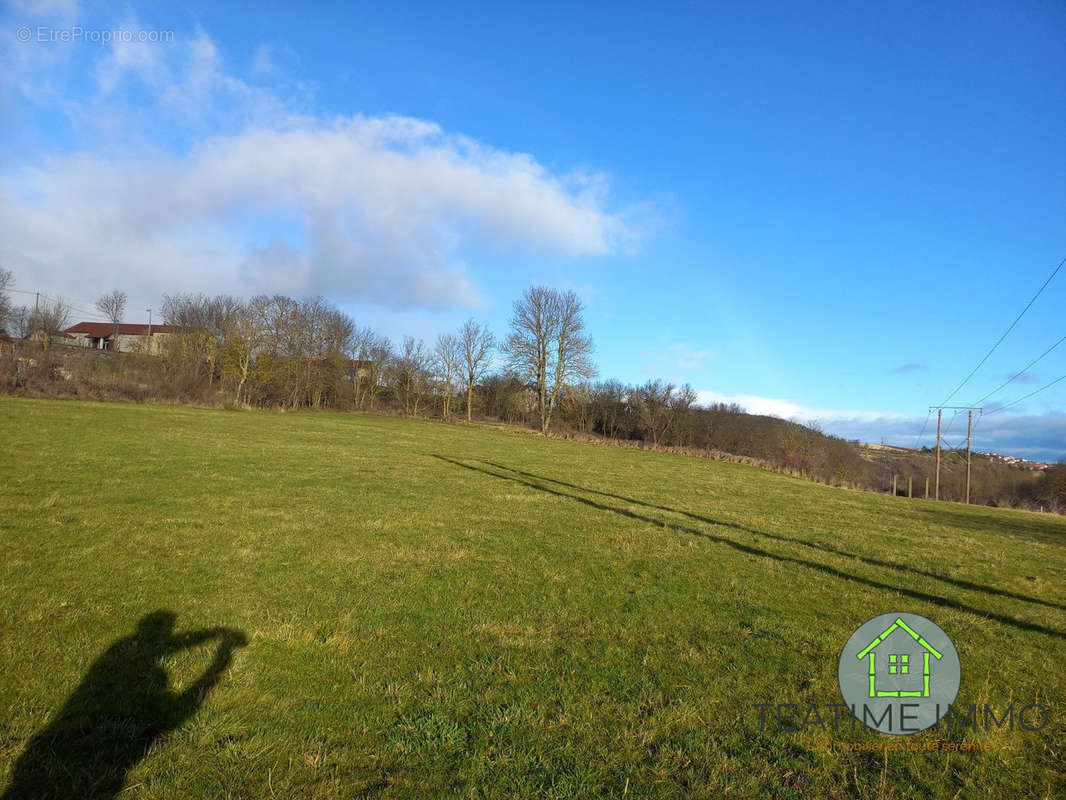
[[[0,442],[6,797],[1066,796],[1063,518],[373,416],[0,398]],[[894,610],[1048,724],[760,731]]]

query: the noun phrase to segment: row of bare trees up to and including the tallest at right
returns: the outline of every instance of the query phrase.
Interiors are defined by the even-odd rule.
[[[547,432],[555,411],[572,404],[578,382],[595,373],[580,299],[545,287],[515,303],[500,343],[470,319],[432,345],[405,337],[394,346],[321,298],[174,294],[164,297],[162,310],[172,326],[169,368],[201,378],[238,404],[392,407],[449,418],[462,402],[471,419],[495,367],[527,400],[532,396],[535,421]]]

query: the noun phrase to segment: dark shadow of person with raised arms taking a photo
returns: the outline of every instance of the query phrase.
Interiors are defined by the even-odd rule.
[[[48,726],[22,751],[2,800],[104,800],[152,742],[180,727],[222,679],[244,634],[209,628],[175,634],[176,614],[155,611],[108,647]],[[172,691],[162,660],[217,640],[204,674]]]

